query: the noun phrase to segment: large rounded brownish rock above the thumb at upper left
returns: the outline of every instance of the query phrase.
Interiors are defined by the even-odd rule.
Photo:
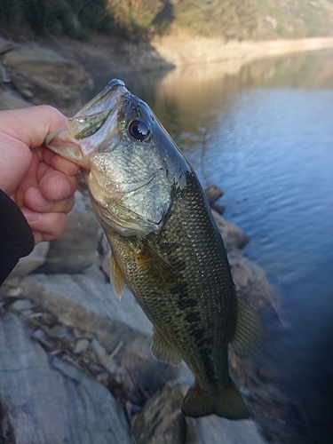
[[[90,76],[74,60],[34,44],[6,52],[3,63],[15,88],[36,105],[48,103],[76,112],[83,105],[79,90],[92,85]]]

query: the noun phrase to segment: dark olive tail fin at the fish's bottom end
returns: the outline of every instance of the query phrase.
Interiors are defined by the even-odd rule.
[[[203,392],[195,382],[186,393],[181,411],[184,415],[192,417],[206,416],[212,413],[227,419],[244,419],[249,416],[249,410],[234,383],[214,395],[210,392]]]

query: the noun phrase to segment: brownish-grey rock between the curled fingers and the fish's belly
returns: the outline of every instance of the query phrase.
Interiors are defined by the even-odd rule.
[[[74,274],[99,263],[102,228],[92,211],[86,209],[79,192],[75,193],[75,206],[68,219],[66,230],[51,242],[44,266],[38,272]]]

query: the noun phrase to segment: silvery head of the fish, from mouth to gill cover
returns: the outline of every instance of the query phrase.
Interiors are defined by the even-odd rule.
[[[45,145],[83,168],[99,222],[124,236],[161,230],[190,170],[153,111],[120,80]]]

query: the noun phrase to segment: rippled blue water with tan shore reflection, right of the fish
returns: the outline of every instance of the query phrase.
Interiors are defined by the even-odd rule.
[[[313,442],[333,442],[333,52],[123,80],[224,190],[287,320],[264,317],[266,358]]]

